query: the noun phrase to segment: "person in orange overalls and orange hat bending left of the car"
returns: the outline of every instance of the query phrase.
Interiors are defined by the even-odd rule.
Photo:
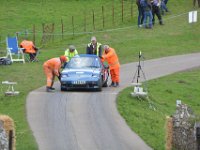
[[[55,76],[58,77],[60,80],[60,68],[63,63],[67,61],[67,58],[65,56],[60,56],[57,58],[52,58],[44,62],[43,69],[44,73],[47,77],[47,85],[46,85],[46,91],[47,92],[53,92],[55,88],[53,88],[53,83]]]

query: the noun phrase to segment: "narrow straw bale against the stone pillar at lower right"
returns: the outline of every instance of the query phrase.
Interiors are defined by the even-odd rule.
[[[173,136],[173,122],[172,122],[172,118],[169,116],[166,116],[165,130],[166,130],[165,149],[171,150],[172,149],[172,136]]]

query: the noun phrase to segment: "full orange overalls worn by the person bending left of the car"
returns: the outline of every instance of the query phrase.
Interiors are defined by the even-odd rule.
[[[62,62],[60,58],[52,58],[43,64],[44,73],[47,77],[47,87],[52,87],[55,76],[59,76]]]

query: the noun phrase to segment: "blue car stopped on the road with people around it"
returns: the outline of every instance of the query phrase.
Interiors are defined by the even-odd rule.
[[[80,54],[73,57],[61,72],[61,91],[96,89],[108,86],[108,67],[96,55]]]

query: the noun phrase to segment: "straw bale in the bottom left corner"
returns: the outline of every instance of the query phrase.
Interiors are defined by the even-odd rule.
[[[6,115],[0,115],[0,120],[3,122],[3,128],[5,129],[8,138],[12,132],[12,139],[9,139],[9,141],[12,140],[12,143],[10,143],[12,144],[12,150],[16,150],[15,126],[13,119]]]

